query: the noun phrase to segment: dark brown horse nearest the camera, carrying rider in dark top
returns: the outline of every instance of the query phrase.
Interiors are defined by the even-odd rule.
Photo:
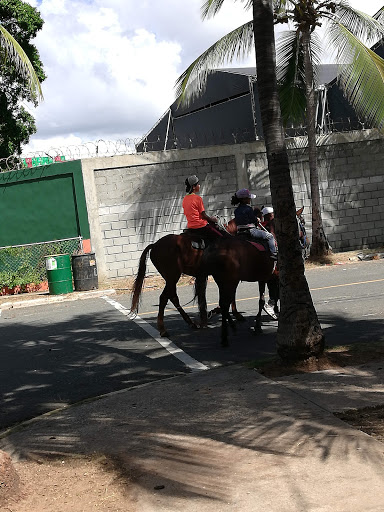
[[[196,296],[202,322],[206,320],[205,282],[212,275],[219,288],[219,307],[222,318],[221,343],[228,345],[228,326],[233,328],[229,306],[235,301],[240,281],[269,281],[274,275],[275,262],[269,252],[238,237],[225,238],[208,247],[201,258],[196,279]],[[261,306],[262,309],[262,306]],[[258,317],[261,316],[260,303]]]

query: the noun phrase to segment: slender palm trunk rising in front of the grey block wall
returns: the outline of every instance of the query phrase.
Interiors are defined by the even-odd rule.
[[[305,93],[307,98],[307,133],[308,133],[308,158],[309,158],[309,181],[311,184],[311,205],[312,205],[312,245],[311,259],[319,259],[329,253],[330,245],[325,236],[323,219],[320,208],[319,173],[317,170],[317,145],[316,145],[316,102],[313,77],[313,65],[311,59],[309,29],[302,32],[304,48],[304,69],[305,69]]]

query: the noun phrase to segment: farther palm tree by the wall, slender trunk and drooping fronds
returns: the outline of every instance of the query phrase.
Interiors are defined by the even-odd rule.
[[[311,256],[316,259],[330,249],[323,228],[317,172],[315,88],[322,48],[316,30],[324,24],[327,46],[336,49],[338,79],[345,96],[361,117],[382,127],[384,60],[362,40],[373,43],[384,36],[384,25],[380,22],[383,9],[371,17],[352,9],[346,0],[278,0],[274,6],[276,22],[292,24],[292,30],[280,39],[277,52],[279,79],[286,89],[286,94],[281,96],[282,109],[287,116],[292,114],[291,107],[300,96],[298,92],[304,90],[306,96],[312,202]],[[300,108],[296,113],[302,115]]]

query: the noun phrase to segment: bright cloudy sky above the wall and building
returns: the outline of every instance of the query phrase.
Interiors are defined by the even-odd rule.
[[[99,139],[137,139],[174,101],[174,83],[214,41],[249,20],[226,1],[215,19],[202,0],[30,0],[44,27],[35,44],[48,78],[32,109],[24,154]],[[384,0],[351,0],[374,14]],[[367,10],[369,6],[369,11]],[[254,65],[250,58],[241,65]]]

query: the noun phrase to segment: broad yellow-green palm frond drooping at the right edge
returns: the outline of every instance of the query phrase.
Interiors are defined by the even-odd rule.
[[[335,30],[335,28],[333,28]],[[384,127],[384,60],[338,24],[339,83],[361,117]]]

